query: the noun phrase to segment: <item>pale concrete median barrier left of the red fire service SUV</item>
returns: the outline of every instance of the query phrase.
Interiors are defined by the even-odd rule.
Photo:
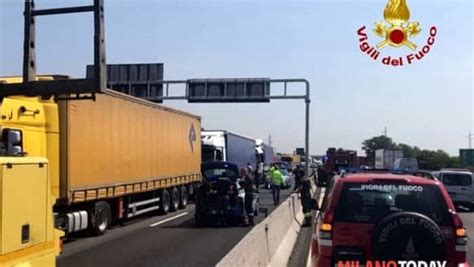
[[[291,194],[216,266],[286,266],[303,219],[298,194]]]

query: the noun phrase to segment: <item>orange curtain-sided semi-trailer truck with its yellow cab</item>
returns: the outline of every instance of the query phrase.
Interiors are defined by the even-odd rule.
[[[48,159],[66,233],[184,208],[201,181],[200,118],[112,90],[95,101],[4,98],[2,127],[19,131],[22,152]]]

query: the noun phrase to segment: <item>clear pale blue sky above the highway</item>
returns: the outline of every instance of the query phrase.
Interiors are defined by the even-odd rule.
[[[38,8],[64,1],[36,1]],[[426,44],[419,62],[388,67],[359,50],[357,29],[383,21],[378,1],[123,1],[106,0],[108,63],[163,62],[165,79],[204,77],[306,78],[311,82],[310,150],[360,150],[361,142],[386,126],[396,142],[452,155],[467,147],[474,130],[473,4],[470,0],[408,0],[410,21]],[[89,4],[90,1],[68,1]],[[0,75],[21,73],[22,1],[0,3]],[[82,77],[92,62],[92,16],[37,18],[39,73]],[[387,47],[385,55],[408,48]],[[203,127],[256,138],[272,135],[279,151],[304,141],[302,101],[270,104],[165,105],[202,116]]]

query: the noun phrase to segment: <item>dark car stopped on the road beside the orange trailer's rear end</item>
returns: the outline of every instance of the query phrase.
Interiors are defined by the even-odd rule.
[[[245,218],[245,192],[239,184],[241,179],[237,165],[229,162],[203,163],[201,173],[203,182],[197,190],[196,224],[242,223]]]

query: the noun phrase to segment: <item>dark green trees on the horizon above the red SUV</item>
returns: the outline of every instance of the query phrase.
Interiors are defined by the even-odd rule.
[[[417,146],[397,144],[392,138],[381,135],[375,136],[362,142],[362,150],[365,151],[369,163],[375,163],[375,150],[391,149],[403,151],[403,157],[416,158],[418,167],[422,170],[439,170],[442,168],[459,168],[459,157],[451,157],[445,151],[421,149]]]

